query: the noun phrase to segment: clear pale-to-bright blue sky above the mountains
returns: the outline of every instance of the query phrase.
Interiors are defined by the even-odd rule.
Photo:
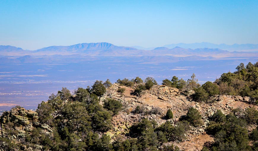
[[[258,44],[258,0],[0,1],[0,45]]]

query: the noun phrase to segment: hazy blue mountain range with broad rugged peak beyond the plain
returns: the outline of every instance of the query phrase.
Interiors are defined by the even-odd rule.
[[[200,43],[202,44],[202,43]],[[246,52],[230,52],[219,48],[181,48],[173,47],[158,47],[152,50],[139,50],[133,47],[116,46],[111,43],[81,43],[70,46],[50,46],[35,51],[27,51],[14,46],[0,46],[1,56],[43,56],[43,55],[74,55],[80,54],[84,56],[171,56],[171,55],[196,55],[196,56],[214,56],[214,55],[231,55],[235,56],[239,53]],[[183,44],[182,44],[183,45]],[[190,44],[186,44],[190,45]],[[205,45],[205,46],[208,46]],[[171,48],[173,47],[173,48]],[[197,44],[196,44],[197,47]],[[253,46],[255,48],[255,46]]]

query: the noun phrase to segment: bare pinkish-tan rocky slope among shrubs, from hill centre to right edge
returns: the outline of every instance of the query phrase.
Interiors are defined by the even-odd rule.
[[[123,94],[117,93],[118,88],[125,88]],[[183,142],[173,142],[180,149],[191,151],[201,150],[203,145],[208,142],[214,142],[214,138],[209,136],[205,132],[205,128],[210,122],[209,119],[213,116],[216,110],[221,110],[224,114],[229,114],[235,108],[251,108],[257,109],[256,105],[252,105],[253,99],[250,97],[231,96],[231,95],[216,95],[213,97],[210,104],[195,102],[190,99],[189,93],[194,93],[192,90],[187,94],[182,93],[179,89],[171,88],[164,85],[153,86],[152,89],[146,90],[141,96],[133,95],[133,88],[120,86],[119,84],[113,84],[109,88],[109,93],[104,95],[101,99],[106,97],[112,97],[117,100],[121,100],[125,109],[120,111],[118,115],[113,117],[112,124],[114,128],[109,130],[107,134],[111,137],[115,135],[122,135],[126,138],[125,134],[128,132],[128,128],[134,123],[139,121],[142,117],[141,114],[133,114],[136,106],[144,106],[146,110],[151,111],[152,108],[160,108],[160,114],[148,114],[145,118],[154,119],[158,125],[163,124],[166,119],[165,113],[168,109],[171,109],[174,115],[172,121],[175,122],[180,117],[187,114],[190,107],[194,107],[200,111],[202,115],[203,125],[199,128],[192,127],[192,130],[187,134],[186,140]]]

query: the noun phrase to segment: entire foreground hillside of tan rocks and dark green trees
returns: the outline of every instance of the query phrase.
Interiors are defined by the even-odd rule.
[[[136,77],[95,81],[74,94],[63,88],[36,112],[4,112],[0,149],[256,150],[258,62],[236,69],[202,86],[193,73],[163,85]]]

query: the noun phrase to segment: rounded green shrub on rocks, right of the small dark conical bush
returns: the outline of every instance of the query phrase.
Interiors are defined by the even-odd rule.
[[[187,114],[186,114],[186,119],[190,124],[193,126],[197,127],[203,124],[202,121],[202,116],[200,112],[196,108],[189,108]]]

